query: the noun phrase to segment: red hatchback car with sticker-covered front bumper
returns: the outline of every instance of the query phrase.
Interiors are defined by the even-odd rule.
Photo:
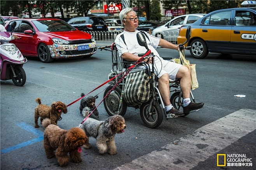
[[[91,56],[96,52],[93,36],[77,30],[60,19],[14,19],[7,21],[5,29],[19,39],[12,40],[23,56],[39,57],[42,62],[56,58]]]

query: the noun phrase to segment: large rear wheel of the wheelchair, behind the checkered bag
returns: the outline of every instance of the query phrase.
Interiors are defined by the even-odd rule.
[[[108,88],[106,88],[106,90],[104,92],[104,97],[105,97],[105,95],[107,95],[109,93],[109,91],[113,87],[114,87],[114,85],[110,85]],[[103,101],[104,107],[105,107],[107,113],[109,114],[109,116],[114,116],[114,115],[117,114],[118,108],[119,108],[119,104],[120,104],[121,92],[122,92],[121,88],[117,86],[104,99],[104,101]],[[127,109],[126,102],[124,100],[122,100],[121,109],[119,111],[119,115],[124,116],[124,114],[126,112],[126,109]]]

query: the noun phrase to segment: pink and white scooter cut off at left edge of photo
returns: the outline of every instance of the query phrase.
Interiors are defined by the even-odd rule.
[[[12,29],[16,26],[16,22],[12,25]],[[23,64],[27,59],[23,57],[15,44],[9,43],[13,40],[12,36],[7,32],[0,32],[0,72],[1,80],[11,80],[16,86],[23,86],[26,82],[26,73]]]

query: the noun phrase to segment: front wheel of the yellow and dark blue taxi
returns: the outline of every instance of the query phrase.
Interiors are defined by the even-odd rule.
[[[203,59],[209,53],[206,43],[201,39],[192,40],[190,46],[190,54],[196,59]]]

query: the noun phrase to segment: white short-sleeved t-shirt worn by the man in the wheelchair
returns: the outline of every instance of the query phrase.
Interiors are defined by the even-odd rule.
[[[137,40],[138,32],[139,31],[137,29],[135,32],[123,31],[122,33],[116,36],[116,40],[115,40],[116,48],[120,56],[124,54],[124,52],[129,52],[134,55],[144,54],[147,52],[147,49],[145,47],[140,46],[138,43],[138,40]],[[147,32],[145,33],[150,39],[150,42],[149,42],[149,39],[145,37],[147,41],[147,47],[151,50],[151,52],[154,53],[155,56],[158,56],[158,57],[154,57],[155,63],[157,63],[158,61],[160,61],[160,59],[162,59],[159,56],[158,52],[156,51],[156,48],[158,47],[158,44],[160,42],[160,38],[152,36]],[[124,35],[124,40],[126,45],[128,45],[128,47],[125,45],[123,39],[121,38],[122,34]]]

